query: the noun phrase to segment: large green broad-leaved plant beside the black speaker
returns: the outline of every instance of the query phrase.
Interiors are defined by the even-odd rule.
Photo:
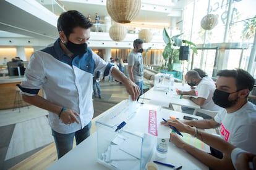
[[[184,44],[184,46],[189,46],[189,48],[197,54],[197,48],[194,42],[180,39],[179,36],[182,34],[177,34],[170,38],[166,29],[164,28],[163,30],[163,40],[166,44],[163,51],[163,59],[166,61],[164,67],[167,71],[173,71],[174,63],[181,63],[179,60],[179,49],[182,44]]]

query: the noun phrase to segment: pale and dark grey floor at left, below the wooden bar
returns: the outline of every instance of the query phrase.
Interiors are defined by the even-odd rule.
[[[34,106],[0,110],[0,169],[11,168],[53,142],[47,111]]]

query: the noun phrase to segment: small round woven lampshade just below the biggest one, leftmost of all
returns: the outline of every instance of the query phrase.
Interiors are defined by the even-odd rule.
[[[122,41],[126,38],[126,32],[126,27],[121,23],[114,23],[108,31],[110,38],[114,41]]]

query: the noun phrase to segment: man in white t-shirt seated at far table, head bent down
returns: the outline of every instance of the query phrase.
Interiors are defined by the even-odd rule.
[[[195,89],[191,89],[191,91],[177,91],[179,95],[194,95],[195,97],[187,97],[183,96],[183,98],[187,98],[192,100],[192,102],[200,105],[201,108],[211,110],[211,111],[218,111],[220,107],[215,105],[212,100],[213,92],[215,91],[215,84],[213,81],[209,81],[207,78],[201,78],[197,71],[190,70],[187,71],[185,75],[185,79],[189,86],[194,87]],[[192,114],[194,108],[187,108],[182,107],[182,112]]]

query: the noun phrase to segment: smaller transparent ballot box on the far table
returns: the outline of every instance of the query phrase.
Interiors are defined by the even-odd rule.
[[[155,75],[154,90],[171,91],[174,84],[174,77],[171,74],[158,73]]]

